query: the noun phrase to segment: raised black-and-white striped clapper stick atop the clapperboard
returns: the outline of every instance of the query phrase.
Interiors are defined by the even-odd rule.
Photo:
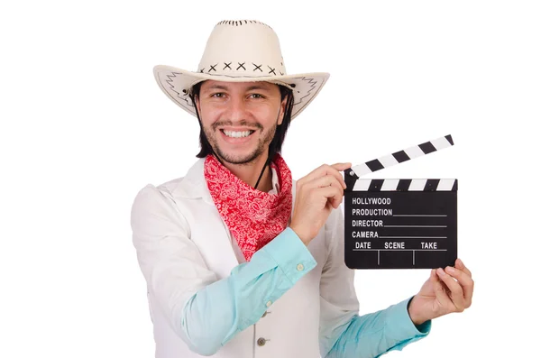
[[[453,138],[451,137],[451,134],[449,134],[433,141],[424,142],[413,147],[409,147],[403,151],[396,151],[381,158],[355,165],[351,169],[344,170],[344,181],[345,185],[347,186],[346,191],[353,190],[357,179],[365,174],[389,168],[403,161],[409,161],[434,151],[440,151],[452,145],[454,145]]]

